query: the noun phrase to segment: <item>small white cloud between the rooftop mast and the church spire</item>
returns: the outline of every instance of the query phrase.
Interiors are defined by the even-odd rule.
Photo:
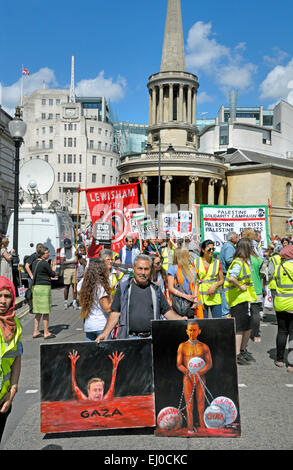
[[[77,96],[105,96],[111,101],[118,101],[124,98],[125,89],[125,78],[119,76],[114,82],[112,78],[106,78],[102,70],[95,78],[80,80],[75,93]]]

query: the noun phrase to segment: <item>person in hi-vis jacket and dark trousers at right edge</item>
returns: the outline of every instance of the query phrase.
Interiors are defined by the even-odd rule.
[[[284,367],[288,339],[288,372],[293,372],[293,245],[280,251],[281,262],[275,268],[276,295],[274,307],[278,322],[275,365]]]

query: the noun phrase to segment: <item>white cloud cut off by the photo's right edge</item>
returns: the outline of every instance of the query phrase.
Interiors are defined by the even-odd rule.
[[[277,65],[271,70],[260,85],[262,99],[290,100],[293,104],[290,81],[293,79],[293,58],[287,65]]]

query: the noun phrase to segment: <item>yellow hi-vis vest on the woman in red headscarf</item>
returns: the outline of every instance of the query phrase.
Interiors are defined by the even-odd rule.
[[[12,340],[7,344],[4,341],[0,328],[0,399],[10,390],[11,369],[17,354],[17,343],[21,341],[21,326],[15,318],[16,331]]]

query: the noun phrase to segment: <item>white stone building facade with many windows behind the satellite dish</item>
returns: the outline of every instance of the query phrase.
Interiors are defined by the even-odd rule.
[[[41,89],[23,99],[27,124],[21,164],[40,158],[55,173],[44,202],[57,200],[77,216],[78,187],[118,184],[119,155],[113,150],[114,129],[104,97],[70,102],[69,90]],[[89,223],[85,193],[80,197],[80,221]]]

